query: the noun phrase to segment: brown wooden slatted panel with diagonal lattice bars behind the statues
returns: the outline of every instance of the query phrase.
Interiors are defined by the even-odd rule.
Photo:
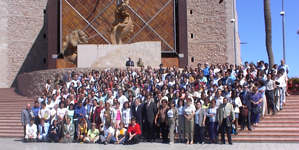
[[[110,44],[116,5],[117,0],[62,0],[62,43],[77,28],[86,33],[89,44]],[[173,0],[129,0],[134,30],[123,43],[161,41],[161,51],[174,51],[173,8]]]

